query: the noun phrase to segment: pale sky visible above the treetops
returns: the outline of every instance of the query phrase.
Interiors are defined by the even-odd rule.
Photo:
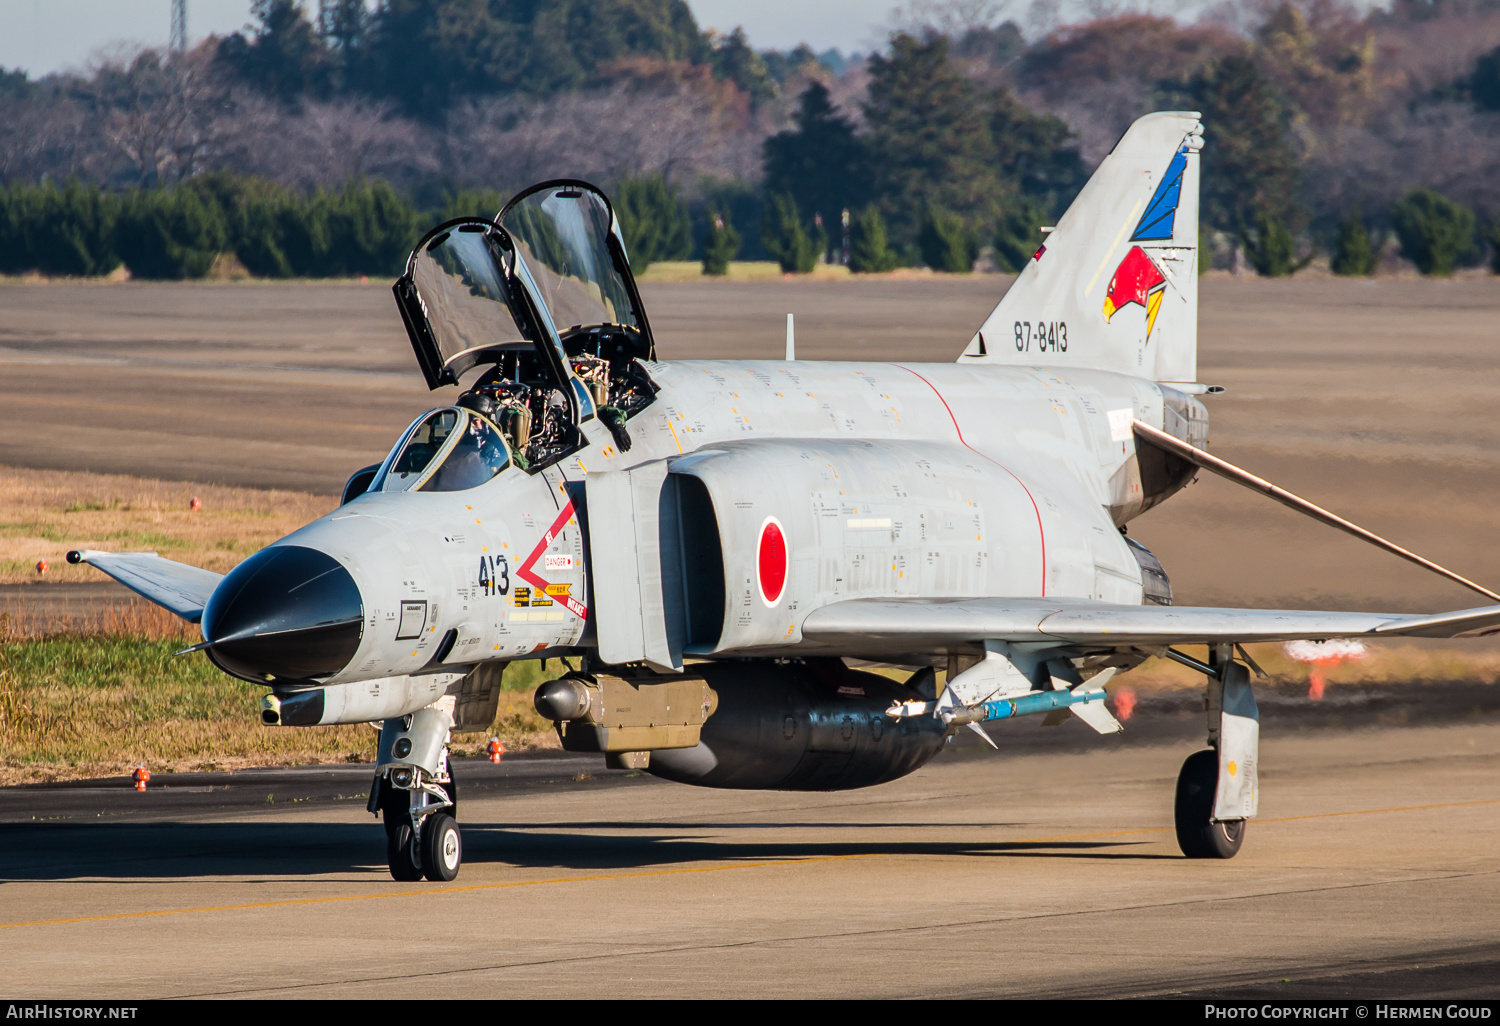
[[[870,50],[896,0],[688,0],[705,28],[744,26],[752,45],[788,50]],[[316,0],[308,0],[316,9]],[[69,68],[117,44],[165,46],[171,0],[0,0],[0,68],[33,78]],[[228,34],[250,20],[250,0],[188,0],[188,36]]]

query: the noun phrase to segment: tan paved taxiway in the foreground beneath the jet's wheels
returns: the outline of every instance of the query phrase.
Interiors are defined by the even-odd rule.
[[[369,766],[6,789],[0,960],[18,998],[1494,998],[1500,718],[1452,712],[1268,729],[1228,862],[1178,854],[1179,716],[861,792],[468,762],[448,885],[390,880]]]

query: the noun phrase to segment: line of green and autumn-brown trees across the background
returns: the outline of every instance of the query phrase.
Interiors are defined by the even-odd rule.
[[[999,9],[909,4],[844,57],[756,51],[681,0],[258,0],[186,54],[0,74],[0,261],[192,276],[219,246],[384,274],[454,196],[567,176],[612,192],[638,266],[1016,270],[1150,110],[1203,112],[1220,264],[1368,273],[1395,240],[1443,274],[1497,249],[1500,0]]]

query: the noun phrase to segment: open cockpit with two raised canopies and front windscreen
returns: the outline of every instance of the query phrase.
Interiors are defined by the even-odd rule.
[[[524,471],[582,448],[580,426],[596,418],[618,450],[630,448],[628,420],[657,392],[642,366],[656,358],[656,345],[620,224],[594,186],[546,182],[506,204],[495,220],[438,225],[412,250],[394,292],[429,388],[488,369],[453,408],[429,414],[453,423],[412,428],[404,440],[412,454],[381,471],[384,490],[450,490],[442,465],[398,471],[416,466],[423,453],[438,459],[441,446],[416,441],[423,432],[447,440],[489,424],[508,464]],[[458,450],[442,452],[453,459]]]

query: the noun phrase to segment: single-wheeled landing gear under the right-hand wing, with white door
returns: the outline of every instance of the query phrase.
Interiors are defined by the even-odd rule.
[[[1260,716],[1250,670],[1233,656],[1232,645],[1216,645],[1206,666],[1191,662],[1209,675],[1204,706],[1210,747],[1190,754],[1178,774],[1173,819],[1178,848],[1188,858],[1234,858],[1260,802]]]

